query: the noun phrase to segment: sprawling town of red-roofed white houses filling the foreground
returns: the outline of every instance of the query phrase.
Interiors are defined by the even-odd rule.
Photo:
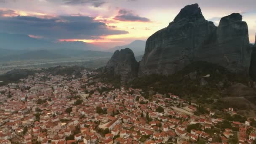
[[[253,144],[255,120],[219,117],[171,92],[38,72],[0,87],[0,144]],[[203,111],[203,112],[202,112]],[[229,117],[241,117],[233,108]],[[254,124],[253,124],[254,123]]]

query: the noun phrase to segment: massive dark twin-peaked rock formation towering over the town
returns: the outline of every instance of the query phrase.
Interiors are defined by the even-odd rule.
[[[192,61],[243,72],[248,71],[250,58],[248,27],[239,13],[223,17],[216,27],[205,20],[198,4],[193,4],[182,8],[168,27],[148,38],[139,76],[170,75]]]

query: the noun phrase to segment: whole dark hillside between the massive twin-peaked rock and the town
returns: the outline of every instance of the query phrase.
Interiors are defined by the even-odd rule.
[[[256,104],[248,100],[256,99],[254,88],[248,87],[247,76],[229,72],[224,67],[206,61],[195,61],[173,75],[146,75],[138,77],[130,85],[144,91],[155,91],[168,96],[168,93],[180,96],[197,104],[214,109],[234,107],[237,111],[256,110]],[[235,90],[234,90],[235,88]],[[144,95],[150,98],[149,93]],[[215,100],[218,100],[214,102]],[[232,101],[229,101],[231,100]],[[239,105],[237,103],[239,101]],[[255,109],[248,109],[248,107]]]

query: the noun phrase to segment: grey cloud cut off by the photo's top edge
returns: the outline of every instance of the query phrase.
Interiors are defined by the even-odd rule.
[[[63,0],[63,2],[67,5],[84,5],[84,4],[91,4],[95,7],[99,7],[103,5],[105,0]]]

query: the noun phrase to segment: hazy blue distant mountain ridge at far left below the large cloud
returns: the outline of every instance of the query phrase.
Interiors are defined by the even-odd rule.
[[[41,49],[59,49],[69,48],[78,50],[101,50],[101,48],[90,43],[80,41],[75,42],[51,42],[44,39],[29,37],[24,34],[7,34],[0,33],[0,48],[8,50],[41,50]]]

